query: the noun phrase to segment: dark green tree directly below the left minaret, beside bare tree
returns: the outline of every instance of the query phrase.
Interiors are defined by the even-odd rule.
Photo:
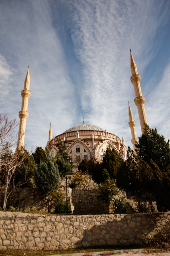
[[[20,154],[23,157],[23,153]],[[36,171],[34,157],[24,150],[24,161],[21,166],[16,168],[14,184],[20,187],[32,187],[32,179]]]

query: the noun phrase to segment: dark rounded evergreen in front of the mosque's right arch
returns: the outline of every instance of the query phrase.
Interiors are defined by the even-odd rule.
[[[106,169],[111,179],[116,179],[117,172],[122,165],[122,159],[114,148],[108,147],[103,154],[102,169]]]

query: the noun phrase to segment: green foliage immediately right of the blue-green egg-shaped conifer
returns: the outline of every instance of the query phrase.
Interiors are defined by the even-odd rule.
[[[64,158],[58,154],[55,156],[54,160],[56,161],[56,164],[58,166],[60,176],[65,176],[72,173],[70,162],[64,160]]]

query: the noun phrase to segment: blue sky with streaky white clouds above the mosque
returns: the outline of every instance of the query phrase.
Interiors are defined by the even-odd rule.
[[[30,65],[25,144],[45,147],[83,123],[131,144],[130,49],[141,75],[148,124],[170,138],[169,0],[1,0],[0,112],[17,118]],[[16,130],[16,133],[18,130]]]

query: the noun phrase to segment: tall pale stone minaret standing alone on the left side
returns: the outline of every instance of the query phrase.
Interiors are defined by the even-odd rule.
[[[21,105],[21,111],[19,111],[20,122],[19,122],[19,131],[18,131],[18,142],[17,142],[17,148],[19,150],[24,145],[24,137],[25,137],[25,131],[26,131],[26,120],[29,115],[29,113],[27,112],[28,99],[30,98],[30,95],[31,95],[31,91],[29,91],[29,88],[30,88],[30,71],[29,71],[29,66],[28,66],[28,71],[27,71],[25,82],[24,82],[24,88],[21,91],[22,105]]]

